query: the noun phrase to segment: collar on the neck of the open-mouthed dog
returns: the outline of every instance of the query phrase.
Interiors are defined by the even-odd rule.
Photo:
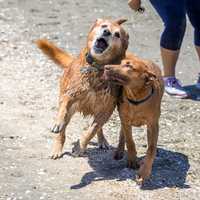
[[[99,72],[103,69],[104,65],[99,65],[96,63],[95,59],[92,57],[90,52],[85,54],[85,59],[90,66],[81,67],[80,72],[82,74],[90,73],[90,72]]]

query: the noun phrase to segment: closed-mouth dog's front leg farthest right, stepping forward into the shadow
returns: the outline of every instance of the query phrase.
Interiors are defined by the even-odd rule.
[[[147,126],[148,149],[144,161],[141,162],[141,166],[138,171],[138,184],[143,184],[145,179],[149,178],[149,176],[151,175],[153,161],[156,156],[158,129],[158,122]]]

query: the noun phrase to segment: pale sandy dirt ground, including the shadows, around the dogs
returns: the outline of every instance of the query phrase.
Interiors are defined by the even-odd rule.
[[[148,1],[144,6],[141,15],[125,0],[0,0],[0,199],[200,199],[200,92],[192,86],[200,65],[189,24],[177,76],[192,91],[192,99],[164,96],[158,153],[143,188],[134,181],[136,172],[126,168],[126,159],[112,159],[119,131],[116,112],[104,128],[110,150],[99,150],[94,139],[86,157],[70,156],[90,121],[77,114],[67,128],[63,158],[48,158],[62,71],[33,41],[45,37],[78,54],[96,18],[126,17],[129,50],[161,66],[162,23]],[[134,128],[133,135],[143,156],[146,132]]]

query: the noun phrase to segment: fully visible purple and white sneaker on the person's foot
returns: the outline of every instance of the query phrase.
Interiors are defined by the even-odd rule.
[[[167,94],[178,98],[188,97],[186,90],[182,87],[180,81],[176,79],[176,77],[164,77],[163,80],[165,84],[165,92]]]

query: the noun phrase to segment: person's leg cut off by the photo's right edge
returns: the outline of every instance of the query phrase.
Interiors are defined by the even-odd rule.
[[[192,26],[194,27],[194,44],[200,61],[200,1],[187,0],[186,10]],[[200,71],[200,70],[199,70]],[[200,73],[197,80],[197,88],[200,89]]]

